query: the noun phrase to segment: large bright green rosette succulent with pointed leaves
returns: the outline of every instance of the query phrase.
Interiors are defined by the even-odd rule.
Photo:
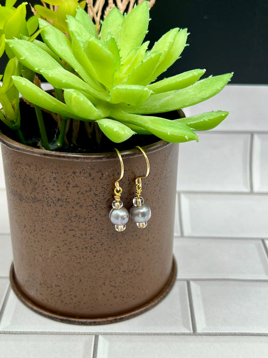
[[[197,140],[194,130],[211,129],[228,115],[216,111],[175,120],[152,116],[207,100],[225,87],[232,74],[200,80],[205,70],[194,69],[154,82],[180,57],[188,33],[187,29],[172,29],[149,50],[149,42],[143,42],[148,24],[147,1],[128,15],[113,8],[99,36],[93,21],[78,7],[75,17],[67,15],[69,38],[39,19],[43,42],[27,36],[7,40],[20,63],[43,75],[55,89],[57,98],[27,76],[13,76],[22,96],[35,105],[43,141],[40,108],[61,116],[61,144],[68,118],[97,123],[114,142],[135,133],[184,142]]]

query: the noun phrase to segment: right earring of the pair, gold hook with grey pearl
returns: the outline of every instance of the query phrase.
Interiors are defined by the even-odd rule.
[[[129,215],[132,220],[137,224],[137,227],[140,229],[144,229],[147,226],[147,221],[151,218],[151,209],[148,205],[144,204],[144,199],[141,197],[142,192],[142,183],[141,179],[146,178],[150,172],[150,163],[149,159],[144,152],[144,150],[140,147],[138,148],[145,157],[146,164],[147,164],[147,172],[146,175],[142,175],[136,178],[136,196],[133,199],[133,206],[131,206],[129,210]]]

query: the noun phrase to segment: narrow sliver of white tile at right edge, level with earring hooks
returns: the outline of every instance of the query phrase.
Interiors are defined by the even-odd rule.
[[[268,134],[254,134],[252,178],[255,192],[268,192]]]

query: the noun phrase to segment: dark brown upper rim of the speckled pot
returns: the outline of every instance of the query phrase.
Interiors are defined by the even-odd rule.
[[[99,160],[110,160],[110,159],[114,160],[115,158],[117,158],[116,152],[77,154],[77,153],[46,151],[44,149],[38,149],[38,148],[24,145],[14,139],[11,139],[7,135],[3,134],[1,130],[0,130],[0,142],[4,146],[12,150],[15,150],[17,152],[31,154],[43,158],[53,158],[53,159],[61,159],[61,160],[75,159],[78,161],[99,161]],[[149,154],[149,153],[156,152],[161,148],[169,146],[171,144],[172,143],[167,142],[165,140],[159,140],[154,142],[153,144],[150,144],[142,148],[144,149],[144,151],[146,151],[146,154]],[[116,147],[116,143],[115,143],[115,147]],[[122,155],[122,157],[133,157],[133,158],[142,155],[141,152],[136,148],[126,151],[120,151],[120,154]]]

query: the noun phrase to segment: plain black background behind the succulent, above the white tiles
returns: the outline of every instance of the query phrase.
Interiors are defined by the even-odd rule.
[[[268,84],[266,0],[156,0],[150,16],[151,44],[174,27],[190,32],[190,46],[165,76],[206,68],[207,75],[234,71],[233,84]],[[2,59],[0,73],[3,66]]]

